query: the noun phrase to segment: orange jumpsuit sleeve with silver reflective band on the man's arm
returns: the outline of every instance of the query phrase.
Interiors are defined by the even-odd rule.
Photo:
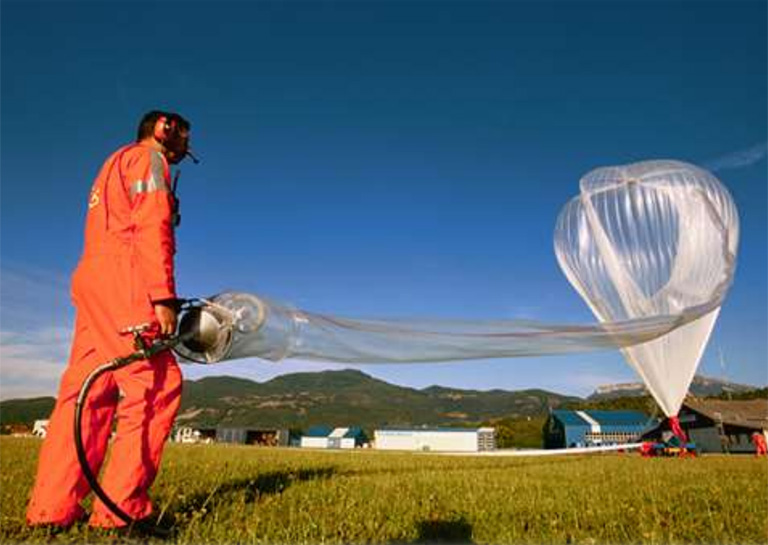
[[[176,298],[170,169],[156,151],[142,154],[128,181],[139,277],[153,302]]]

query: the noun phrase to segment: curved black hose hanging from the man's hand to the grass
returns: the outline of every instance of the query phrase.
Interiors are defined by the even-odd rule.
[[[164,350],[173,348],[176,344],[179,343],[179,341],[180,341],[179,337],[174,337],[166,340],[156,341],[148,347],[145,347],[143,344],[140,344],[139,346],[141,346],[141,348],[138,348],[136,352],[133,352],[132,354],[129,354],[128,356],[125,356],[122,358],[115,358],[113,360],[108,361],[107,363],[99,365],[85,377],[85,380],[83,380],[83,385],[80,387],[80,393],[77,396],[77,401],[75,401],[75,425],[74,425],[75,450],[77,451],[77,460],[80,462],[80,468],[83,471],[85,480],[88,481],[88,484],[93,490],[93,493],[96,494],[96,496],[104,503],[107,509],[112,511],[112,513],[114,513],[115,516],[117,516],[120,520],[122,520],[127,525],[134,525],[137,523],[141,524],[141,521],[131,517],[128,513],[120,509],[120,507],[114,501],[112,501],[112,499],[107,495],[104,489],[101,488],[101,485],[99,484],[99,481],[96,478],[96,475],[91,469],[90,463],[88,463],[88,457],[85,454],[85,446],[83,445],[83,427],[82,427],[82,419],[83,419],[82,416],[83,416],[83,408],[85,407],[85,400],[88,397],[88,391],[91,389],[91,386],[93,386],[93,383],[96,382],[96,379],[99,378],[104,373],[108,371],[114,371],[115,369],[119,369],[120,367],[124,367],[135,361],[149,359],[155,354],[158,354],[160,352],[163,352]],[[142,342],[143,341],[140,341],[139,337],[137,336],[137,344]],[[155,525],[147,524],[146,526],[143,527],[143,529],[150,531],[152,534],[158,537],[168,536],[167,531],[164,531]]]

